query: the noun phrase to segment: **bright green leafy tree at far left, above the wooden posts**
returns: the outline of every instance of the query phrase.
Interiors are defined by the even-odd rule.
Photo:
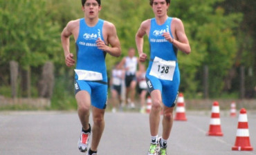
[[[0,5],[0,61],[17,61],[29,90],[31,66],[60,60],[60,27],[48,16],[46,0],[0,1]]]

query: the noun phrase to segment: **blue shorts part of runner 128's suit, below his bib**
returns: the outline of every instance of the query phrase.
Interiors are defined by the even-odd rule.
[[[162,94],[163,104],[167,107],[174,107],[176,105],[176,101],[179,93],[179,84],[180,84],[179,76],[180,76],[179,70],[176,70],[174,74],[174,79],[172,81],[169,81],[169,80],[158,79],[155,76],[149,75],[149,73],[147,72],[146,81],[147,81],[147,90],[149,94],[153,90],[160,90]]]

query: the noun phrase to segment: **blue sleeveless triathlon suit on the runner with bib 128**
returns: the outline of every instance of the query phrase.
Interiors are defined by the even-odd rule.
[[[150,61],[146,73],[147,88],[149,93],[151,93],[153,90],[160,90],[163,104],[167,107],[175,106],[180,84],[180,72],[177,61],[178,49],[163,37],[163,32],[170,32],[170,35],[173,37],[171,23],[171,17],[168,17],[163,25],[158,25],[155,18],[151,19],[149,32]],[[169,75],[166,76],[165,73],[170,73],[170,67],[166,67],[165,65],[154,65],[156,66],[156,74],[159,74],[159,76],[150,74],[152,71],[152,65],[157,59],[156,57],[163,59],[163,61],[172,61],[174,64],[174,67],[172,67],[173,77],[171,80],[161,78],[161,76],[169,78]]]

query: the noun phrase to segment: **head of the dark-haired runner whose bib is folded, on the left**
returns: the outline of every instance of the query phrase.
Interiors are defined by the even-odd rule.
[[[95,0],[87,0],[84,3],[84,6],[82,6],[82,10],[84,11],[86,17],[93,19],[95,17],[98,17],[101,6],[99,6],[98,2]]]

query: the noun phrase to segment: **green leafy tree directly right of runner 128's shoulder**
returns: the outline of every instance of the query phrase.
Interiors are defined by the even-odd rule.
[[[221,7],[214,5],[222,0],[201,1],[193,0],[183,3],[173,1],[174,17],[183,20],[186,33],[190,40],[192,53],[190,56],[180,54],[181,90],[189,91],[193,96],[202,90],[202,74],[204,65],[209,66],[210,96],[218,96],[223,90],[223,78],[228,74],[232,61],[237,52],[233,28],[241,22],[241,13],[224,14]],[[203,2],[203,3],[201,3]],[[200,4],[200,5],[199,5]],[[200,75],[196,77],[196,75]]]

